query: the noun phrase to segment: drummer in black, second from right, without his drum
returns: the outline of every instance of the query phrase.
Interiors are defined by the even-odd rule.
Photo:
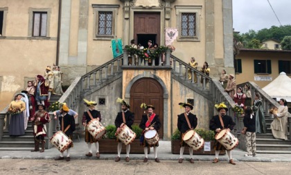
[[[190,111],[193,110],[193,106],[190,103],[179,103],[180,106],[185,108],[185,113],[182,113],[178,115],[178,124],[177,127],[181,133],[180,138],[181,138],[181,143],[180,143],[180,158],[179,158],[179,163],[183,163],[183,153],[185,147],[189,148],[189,154],[190,154],[190,163],[194,163],[193,159],[193,149],[188,146],[183,141],[183,137],[186,133],[186,131],[190,129],[195,129],[197,126],[197,117],[196,115],[193,115]]]

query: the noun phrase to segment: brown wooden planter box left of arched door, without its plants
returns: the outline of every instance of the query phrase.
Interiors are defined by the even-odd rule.
[[[100,153],[117,153],[116,139],[101,139],[99,140],[99,151]],[[141,147],[139,139],[135,139],[130,144],[130,153],[144,153],[143,147]],[[125,144],[122,145],[121,153],[126,153]],[[150,153],[150,148],[148,149]]]

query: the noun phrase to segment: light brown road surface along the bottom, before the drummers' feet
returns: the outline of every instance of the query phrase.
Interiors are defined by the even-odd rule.
[[[291,163],[1,159],[0,174],[290,174]],[[219,172],[219,173],[218,173]]]

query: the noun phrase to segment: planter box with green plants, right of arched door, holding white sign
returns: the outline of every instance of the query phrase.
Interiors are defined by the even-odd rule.
[[[204,148],[199,151],[193,151],[193,154],[205,154],[205,155],[214,155],[215,151],[212,149],[215,141],[214,131],[204,130],[204,129],[195,129],[195,132],[204,139]],[[207,146],[210,146],[210,151],[204,151]],[[209,147],[208,147],[209,148]],[[171,151],[174,154],[180,153],[180,132],[178,129],[173,133],[171,137]],[[184,153],[189,153],[188,149],[185,149]],[[220,151],[220,155],[224,155],[225,151]]]

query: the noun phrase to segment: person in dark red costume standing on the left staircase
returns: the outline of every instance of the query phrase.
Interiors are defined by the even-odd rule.
[[[48,87],[46,86],[45,79],[41,75],[37,75],[35,78],[35,101],[37,104],[42,103],[48,97]]]

